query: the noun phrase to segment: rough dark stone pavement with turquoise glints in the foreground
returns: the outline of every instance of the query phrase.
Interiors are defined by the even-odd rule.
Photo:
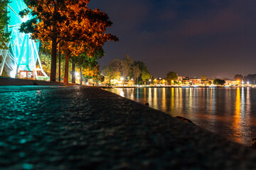
[[[108,91],[18,88],[0,91],[0,169],[256,169],[254,149]]]

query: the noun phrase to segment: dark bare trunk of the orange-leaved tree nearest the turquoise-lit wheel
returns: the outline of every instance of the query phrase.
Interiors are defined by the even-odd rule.
[[[56,69],[57,69],[57,38],[52,38],[52,51],[51,51],[51,63],[50,63],[50,81],[56,81]]]

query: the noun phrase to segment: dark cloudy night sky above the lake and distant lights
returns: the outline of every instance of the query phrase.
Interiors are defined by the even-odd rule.
[[[100,68],[129,55],[154,77],[256,74],[255,0],[91,0],[113,25]]]

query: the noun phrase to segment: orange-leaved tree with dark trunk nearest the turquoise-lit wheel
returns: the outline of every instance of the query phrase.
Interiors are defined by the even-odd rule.
[[[31,20],[21,24],[21,32],[31,33],[33,40],[40,40],[43,45],[51,46],[50,81],[56,79],[57,45],[60,40],[62,23],[68,21],[68,17],[61,15],[67,10],[70,1],[60,0],[27,0],[29,9],[20,12],[21,17],[31,13]]]

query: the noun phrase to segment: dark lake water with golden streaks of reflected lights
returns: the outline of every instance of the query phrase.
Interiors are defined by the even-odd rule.
[[[137,88],[110,91],[172,116],[183,116],[201,128],[242,145],[256,137],[256,89]]]

